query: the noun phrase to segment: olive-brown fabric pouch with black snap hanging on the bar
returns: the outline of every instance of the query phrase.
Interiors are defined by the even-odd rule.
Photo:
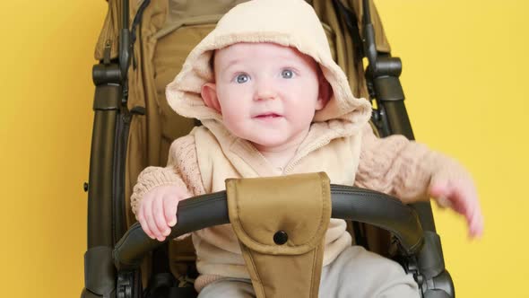
[[[325,172],[226,180],[230,223],[257,297],[317,297],[329,183]]]

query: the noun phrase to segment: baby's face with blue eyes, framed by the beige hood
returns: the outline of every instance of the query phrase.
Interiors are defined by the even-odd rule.
[[[325,106],[317,63],[293,48],[238,43],[216,51],[214,68],[224,125],[259,150],[299,145]]]

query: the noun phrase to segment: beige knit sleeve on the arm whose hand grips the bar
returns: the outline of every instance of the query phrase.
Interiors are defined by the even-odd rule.
[[[140,173],[131,196],[134,215],[147,192],[168,184],[186,188],[192,196],[205,193],[196,158],[195,136],[183,136],[171,144],[165,168],[147,167]]]

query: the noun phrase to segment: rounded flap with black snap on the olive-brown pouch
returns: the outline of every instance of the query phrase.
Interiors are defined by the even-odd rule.
[[[331,217],[325,172],[226,180],[230,223],[250,250],[299,255],[321,243]]]

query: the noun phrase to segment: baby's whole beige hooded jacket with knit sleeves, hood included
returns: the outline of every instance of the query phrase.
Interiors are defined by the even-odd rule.
[[[297,48],[315,59],[333,89],[284,169],[274,169],[253,145],[230,134],[222,125],[221,114],[207,107],[200,96],[204,83],[214,81],[210,64],[214,49],[237,42],[273,42]],[[426,197],[432,173],[443,159],[403,136],[377,139],[373,135],[368,124],[369,101],[352,95],[345,74],[331,57],[316,13],[303,0],[238,4],[191,51],[182,71],[169,83],[167,98],[180,115],[198,118],[204,127],[195,127],[171,145],[167,167],[151,167],[141,173],[131,197],[134,213],[143,195],[163,184],[185,187],[197,196],[223,190],[228,178],[316,171],[325,171],[332,183],[372,188],[409,202]],[[351,245],[345,226],[343,220],[331,220],[325,235],[324,266]],[[202,275],[195,283],[198,290],[212,281],[212,276],[249,278],[230,224],[194,232],[193,242]]]

